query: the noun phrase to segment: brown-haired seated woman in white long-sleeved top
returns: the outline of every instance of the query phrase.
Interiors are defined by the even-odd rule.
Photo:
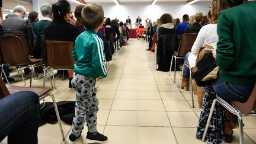
[[[212,6],[213,7],[213,6]],[[212,18],[210,19],[210,24],[202,27],[197,35],[196,41],[194,41],[193,47],[191,48],[191,52],[187,53],[185,56],[184,63],[187,63],[190,68],[193,68],[196,65],[197,56],[200,53],[200,47],[205,44],[217,43],[217,18],[218,11],[216,8],[213,8],[211,11]],[[190,71],[187,67],[184,67],[183,71],[183,79],[181,83],[181,88],[184,88],[185,91],[188,89],[188,79],[190,76]],[[180,84],[178,84],[180,87]]]

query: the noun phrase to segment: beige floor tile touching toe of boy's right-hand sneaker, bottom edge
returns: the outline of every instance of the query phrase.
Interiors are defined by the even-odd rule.
[[[108,136],[105,144],[138,144],[137,127],[106,126],[104,135]]]

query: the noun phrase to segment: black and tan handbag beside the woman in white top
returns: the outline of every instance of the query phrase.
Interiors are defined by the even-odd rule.
[[[203,47],[204,48],[204,47]],[[219,66],[216,65],[212,52],[202,49],[197,56],[196,66],[193,68],[192,76],[199,87],[210,85],[213,79],[217,79]]]

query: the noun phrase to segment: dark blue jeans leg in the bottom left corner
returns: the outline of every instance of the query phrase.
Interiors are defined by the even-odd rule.
[[[0,100],[0,142],[8,136],[9,144],[37,144],[40,120],[39,97],[21,91]]]

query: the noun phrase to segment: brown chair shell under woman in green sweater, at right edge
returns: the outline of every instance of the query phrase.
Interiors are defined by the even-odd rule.
[[[240,103],[239,101],[231,101],[231,104],[235,108],[237,108],[241,113],[243,114],[249,114],[255,108],[255,100],[256,100],[256,84],[254,85],[254,88],[252,89],[251,95],[249,96],[249,99],[245,103]]]

